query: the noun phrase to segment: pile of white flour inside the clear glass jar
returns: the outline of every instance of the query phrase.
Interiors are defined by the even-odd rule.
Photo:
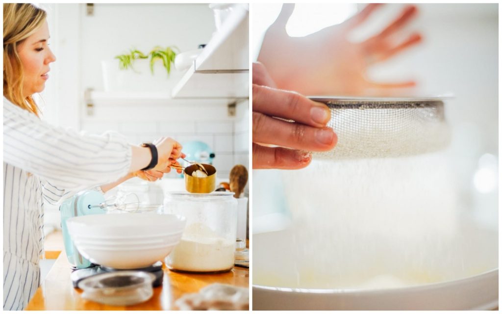
[[[167,262],[177,270],[221,271],[233,267],[234,252],[235,241],[220,237],[202,223],[195,223],[185,229]]]

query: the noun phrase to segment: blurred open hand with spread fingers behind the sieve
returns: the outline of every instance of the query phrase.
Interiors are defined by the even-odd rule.
[[[284,4],[277,20],[268,29],[258,57],[277,87],[305,95],[390,95],[393,88],[413,87],[412,80],[378,83],[367,79],[370,65],[386,60],[422,40],[419,33],[405,40],[394,35],[416,16],[417,8],[407,6],[401,16],[380,34],[352,43],[347,35],[361,25],[380,5],[369,4],[342,24],[305,37],[290,37],[286,32],[294,4]],[[395,91],[396,89],[394,89]]]

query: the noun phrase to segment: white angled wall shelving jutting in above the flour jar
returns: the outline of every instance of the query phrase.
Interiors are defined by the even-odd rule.
[[[173,98],[249,97],[249,14],[237,5],[172,90]]]

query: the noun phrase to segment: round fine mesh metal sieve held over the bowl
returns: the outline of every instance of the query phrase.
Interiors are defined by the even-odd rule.
[[[317,158],[354,159],[417,155],[445,148],[450,132],[442,97],[352,98],[311,96],[327,104],[336,146]]]

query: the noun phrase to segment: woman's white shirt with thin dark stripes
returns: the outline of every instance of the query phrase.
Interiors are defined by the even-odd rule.
[[[131,146],[116,133],[53,127],[4,97],[4,310],[21,310],[40,284],[44,203],[128,173]]]

